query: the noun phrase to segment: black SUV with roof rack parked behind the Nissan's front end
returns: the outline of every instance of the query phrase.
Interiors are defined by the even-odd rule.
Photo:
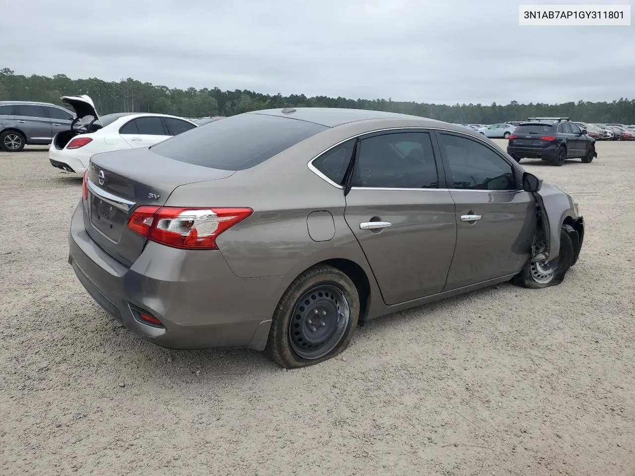
[[[561,166],[565,159],[582,159],[588,164],[594,157],[595,139],[568,117],[530,117],[509,136],[507,154],[516,162],[527,157]]]

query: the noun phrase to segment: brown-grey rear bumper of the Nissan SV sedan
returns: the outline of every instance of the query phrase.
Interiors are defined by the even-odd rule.
[[[263,350],[277,303],[294,278],[242,279],[220,251],[186,251],[154,242],[127,268],[86,233],[81,202],[71,221],[69,263],[104,310],[168,348]],[[164,327],[144,323],[137,310],[152,314]]]

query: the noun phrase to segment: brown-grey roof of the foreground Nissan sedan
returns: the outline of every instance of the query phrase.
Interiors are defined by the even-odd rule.
[[[413,119],[421,122],[419,127],[438,127],[439,124],[454,125],[449,122],[428,119],[427,117],[411,116],[410,114],[399,114],[398,112],[386,112],[367,109],[344,109],[337,107],[297,107],[285,109],[264,109],[246,114],[265,114],[269,116],[290,117],[299,121],[314,122],[321,126],[333,128],[350,122],[370,121],[373,119]],[[460,130],[460,129],[457,129]]]

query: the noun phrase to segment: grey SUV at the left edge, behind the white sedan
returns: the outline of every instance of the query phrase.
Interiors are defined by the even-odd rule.
[[[0,101],[0,148],[20,152],[25,145],[49,145],[70,128],[74,114],[44,102]]]

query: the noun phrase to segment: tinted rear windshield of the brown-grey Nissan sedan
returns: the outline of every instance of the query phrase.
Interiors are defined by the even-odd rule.
[[[244,170],[326,129],[288,117],[239,114],[190,129],[151,150],[189,164]]]

